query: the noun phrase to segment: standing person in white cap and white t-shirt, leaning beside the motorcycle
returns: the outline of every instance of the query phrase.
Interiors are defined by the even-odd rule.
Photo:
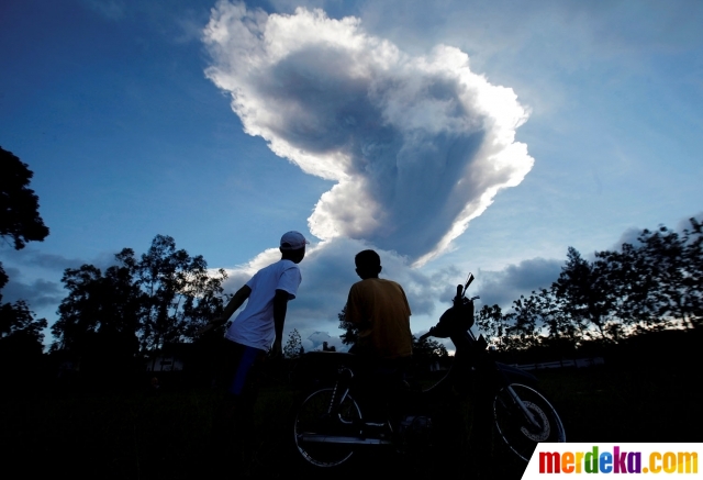
[[[213,320],[200,333],[224,324],[234,312],[248,302],[225,334],[225,376],[228,382],[219,418],[213,423],[213,440],[225,449],[232,431],[239,440],[250,428],[258,365],[270,353],[281,355],[283,323],[288,301],[293,300],[301,282],[298,264],[305,257],[309,242],[299,232],[283,234],[281,259],[257,271],[232,297],[221,317]],[[237,445],[241,447],[241,445]]]

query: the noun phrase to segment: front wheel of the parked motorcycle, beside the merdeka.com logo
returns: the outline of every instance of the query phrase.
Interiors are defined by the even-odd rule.
[[[542,442],[566,442],[566,432],[559,414],[537,390],[520,384],[510,386],[532,413],[533,425],[516,404],[507,387],[502,388],[493,399],[493,420],[503,442],[524,461],[529,461],[533,451]]]

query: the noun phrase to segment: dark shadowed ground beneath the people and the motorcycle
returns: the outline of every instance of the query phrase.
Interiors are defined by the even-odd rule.
[[[563,421],[570,442],[700,442],[703,427],[700,355],[683,345],[615,355],[605,366],[537,372],[540,390]],[[448,402],[433,448],[362,457],[339,471],[309,471],[293,451],[290,414],[295,393],[269,379],[255,422],[258,436],[228,477],[355,478],[387,470],[411,479],[520,478],[514,461],[490,438],[471,438],[470,404]],[[216,395],[207,389],[108,394],[13,394],[0,400],[2,478],[200,479],[213,477],[208,449]],[[477,445],[484,448],[477,448]],[[488,447],[487,447],[488,445]],[[373,468],[369,466],[373,462]]]

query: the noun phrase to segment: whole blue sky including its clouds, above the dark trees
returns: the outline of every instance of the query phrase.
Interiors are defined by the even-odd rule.
[[[698,1],[4,1],[0,146],[51,235],[0,248],[3,301],[53,321],[64,268],[156,234],[233,291],[299,230],[303,338],[338,335],[366,247],[414,332],[468,271],[507,306],[568,246],[701,217],[702,23]]]

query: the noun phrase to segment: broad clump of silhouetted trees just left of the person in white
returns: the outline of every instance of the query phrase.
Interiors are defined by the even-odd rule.
[[[157,235],[141,259],[125,248],[115,260],[104,275],[92,265],[66,269],[69,293],[52,327],[53,349],[100,357],[100,345],[110,359],[125,360],[192,341],[223,310],[224,270],[210,275],[202,256],[177,250],[171,237]]]

